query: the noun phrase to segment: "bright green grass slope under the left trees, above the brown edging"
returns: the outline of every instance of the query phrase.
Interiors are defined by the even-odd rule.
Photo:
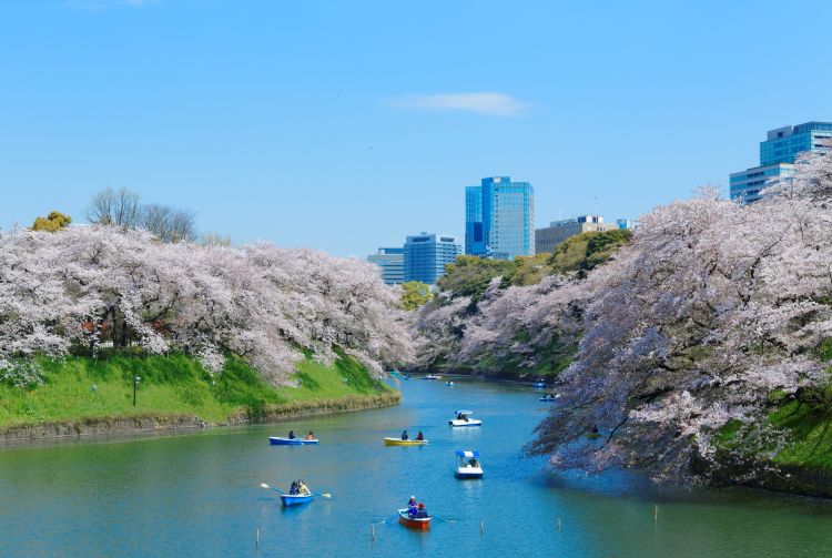
[[[31,389],[0,384],[0,430],[44,423],[97,418],[194,416],[223,423],[241,413],[275,407],[311,408],[311,402],[361,398],[389,392],[354,358],[331,366],[312,358],[297,364],[298,387],[275,388],[250,366],[229,361],[211,375],[193,358],[176,354],[113,354],[105,358],[39,358],[44,384]],[[133,376],[140,376],[133,407]],[[94,386],[94,388],[93,388]]]

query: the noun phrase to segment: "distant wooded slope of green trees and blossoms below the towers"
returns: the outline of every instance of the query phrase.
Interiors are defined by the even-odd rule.
[[[436,298],[413,316],[420,346],[412,366],[515,379],[557,376],[572,362],[579,331],[540,327],[544,316],[532,316],[529,297],[556,296],[564,282],[584,281],[631,236],[584,233],[551,254],[514,261],[459,256],[437,282]]]

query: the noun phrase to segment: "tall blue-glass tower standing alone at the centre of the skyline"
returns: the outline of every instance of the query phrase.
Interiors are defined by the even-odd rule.
[[[510,176],[483,179],[465,189],[465,251],[513,260],[535,251],[535,190]]]

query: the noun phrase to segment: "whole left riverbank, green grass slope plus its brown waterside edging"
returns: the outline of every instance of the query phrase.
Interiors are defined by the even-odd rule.
[[[344,354],[329,366],[298,363],[296,387],[273,387],[240,361],[212,375],[181,354],[38,365],[42,385],[0,385],[0,442],[271,423],[400,403],[398,392]]]

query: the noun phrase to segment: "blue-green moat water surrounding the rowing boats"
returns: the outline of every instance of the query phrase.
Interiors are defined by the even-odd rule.
[[[459,384],[403,382],[399,407],[280,425],[0,448],[0,556],[832,556],[832,503],[551,474],[520,454],[537,393]],[[448,427],[461,407],[483,427]],[[321,445],[268,445],[290,428]],[[383,445],[403,428],[430,444]],[[456,449],[481,452],[486,477],[454,478]],[[332,499],[283,509],[258,486],[295,478]],[[445,520],[385,523],[412,495]]]

